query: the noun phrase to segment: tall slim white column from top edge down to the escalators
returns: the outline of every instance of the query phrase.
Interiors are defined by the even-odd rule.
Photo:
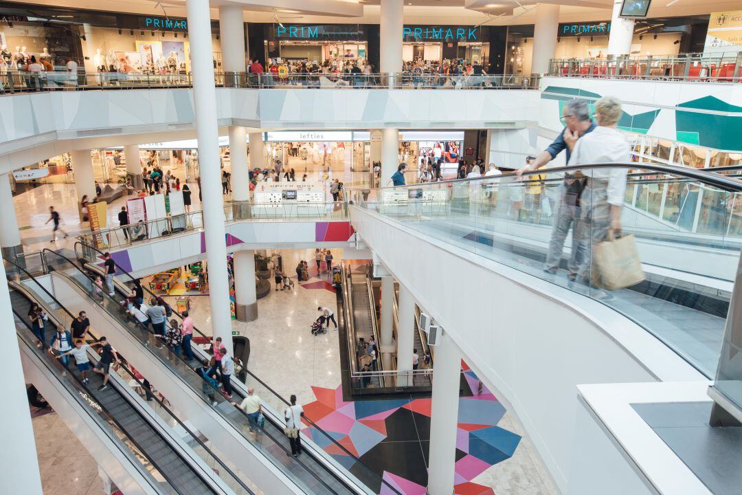
[[[201,171],[206,262],[209,266],[211,331],[221,337],[232,354],[232,314],[224,231],[224,210],[217,128],[217,94],[211,58],[211,18],[208,0],[187,0],[188,36],[191,42],[193,98]]]

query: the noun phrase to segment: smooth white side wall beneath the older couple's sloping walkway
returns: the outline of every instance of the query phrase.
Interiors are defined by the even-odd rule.
[[[606,306],[366,210],[352,207],[351,218],[364,242],[516,414],[565,493],[580,407],[577,384],[701,378]]]

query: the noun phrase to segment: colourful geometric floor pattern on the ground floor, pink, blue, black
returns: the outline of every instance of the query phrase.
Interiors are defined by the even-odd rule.
[[[520,436],[496,426],[505,407],[463,361],[462,369],[462,387],[467,396],[459,398],[455,494],[493,495],[492,488],[472,480],[490,466],[509,459]],[[317,400],[303,406],[309,419],[402,494],[425,494],[431,399],[344,401],[341,387],[312,390]],[[341,465],[368,479],[363,476],[365,470],[355,465],[355,459],[315,427],[303,431]],[[394,493],[387,485],[376,485],[370,488],[381,495]]]

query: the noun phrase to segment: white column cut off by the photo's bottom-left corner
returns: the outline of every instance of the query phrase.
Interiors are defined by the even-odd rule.
[[[5,280],[5,268],[2,264],[0,263],[0,280]],[[0,289],[0,315],[4,315],[2,321],[5,322],[3,327],[6,330],[16,327],[7,286]],[[5,342],[10,348],[0,360],[0,373],[3,377],[0,438],[5,445],[0,449],[0,465],[4,473],[2,482],[7,487],[23,487],[20,491],[24,494],[42,495],[39,457],[36,454],[36,440],[33,438],[21,354],[16,335],[7,332],[6,338],[10,339]]]

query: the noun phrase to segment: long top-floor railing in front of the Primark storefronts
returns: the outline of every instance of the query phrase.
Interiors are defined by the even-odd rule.
[[[217,73],[221,88],[253,89],[536,89],[537,76],[439,73]],[[69,73],[7,71],[0,73],[0,95],[45,91],[191,88],[192,74],[123,72]]]

